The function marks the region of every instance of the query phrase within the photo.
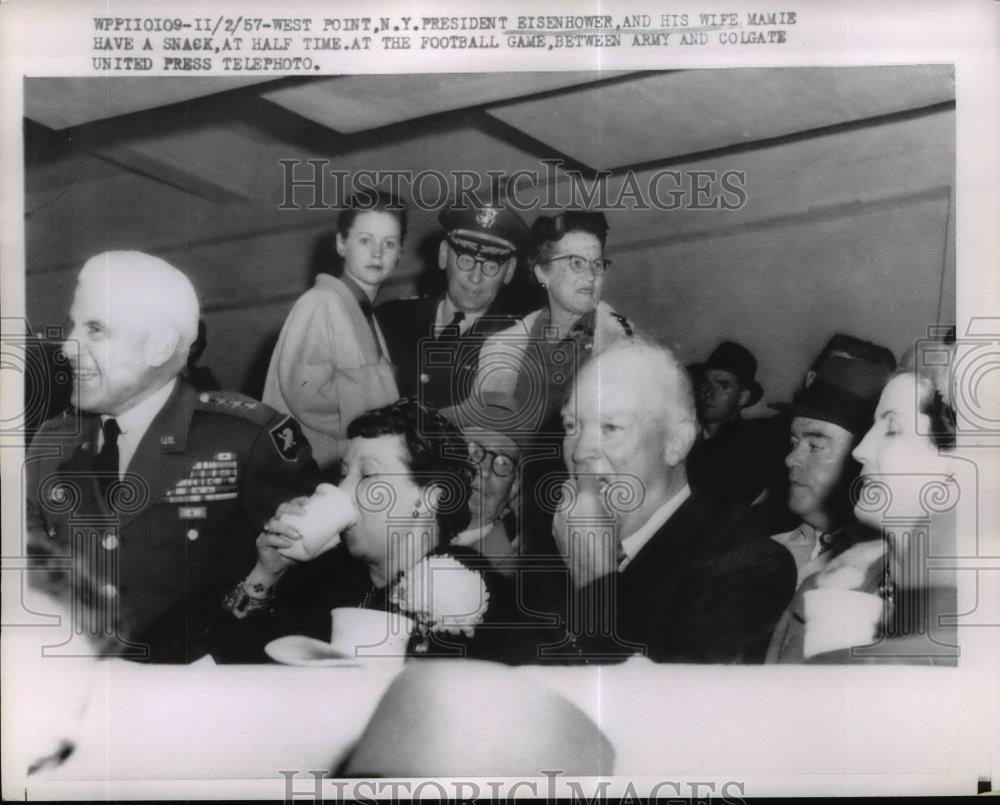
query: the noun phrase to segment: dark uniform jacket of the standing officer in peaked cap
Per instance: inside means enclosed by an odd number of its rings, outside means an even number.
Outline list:
[[[520,317],[494,302],[468,331],[435,333],[440,296],[396,299],[376,311],[403,397],[444,409],[459,405],[472,389],[486,339]]]

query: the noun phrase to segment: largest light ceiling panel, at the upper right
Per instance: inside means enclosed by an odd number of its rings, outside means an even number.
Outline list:
[[[952,69],[689,70],[515,101],[489,114],[593,168],[618,168],[953,101]]]

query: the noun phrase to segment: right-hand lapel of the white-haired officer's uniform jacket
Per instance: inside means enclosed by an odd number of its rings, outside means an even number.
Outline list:
[[[198,392],[183,378],[160,409],[139,442],[129,463],[128,474],[137,475],[148,488],[143,503],[121,515],[121,525],[130,523],[177,483],[187,472],[187,437]]]

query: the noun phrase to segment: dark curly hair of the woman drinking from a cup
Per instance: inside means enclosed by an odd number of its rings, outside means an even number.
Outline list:
[[[469,498],[475,467],[469,462],[462,434],[435,408],[409,398],[367,411],[347,428],[347,438],[376,439],[402,436],[409,455],[407,466],[421,489],[436,485],[439,543],[447,545],[469,525]]]

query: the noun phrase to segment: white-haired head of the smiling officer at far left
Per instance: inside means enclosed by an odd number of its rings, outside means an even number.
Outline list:
[[[73,404],[118,416],[172,380],[198,335],[190,280],[142,252],[104,252],[80,271],[66,351]]]

